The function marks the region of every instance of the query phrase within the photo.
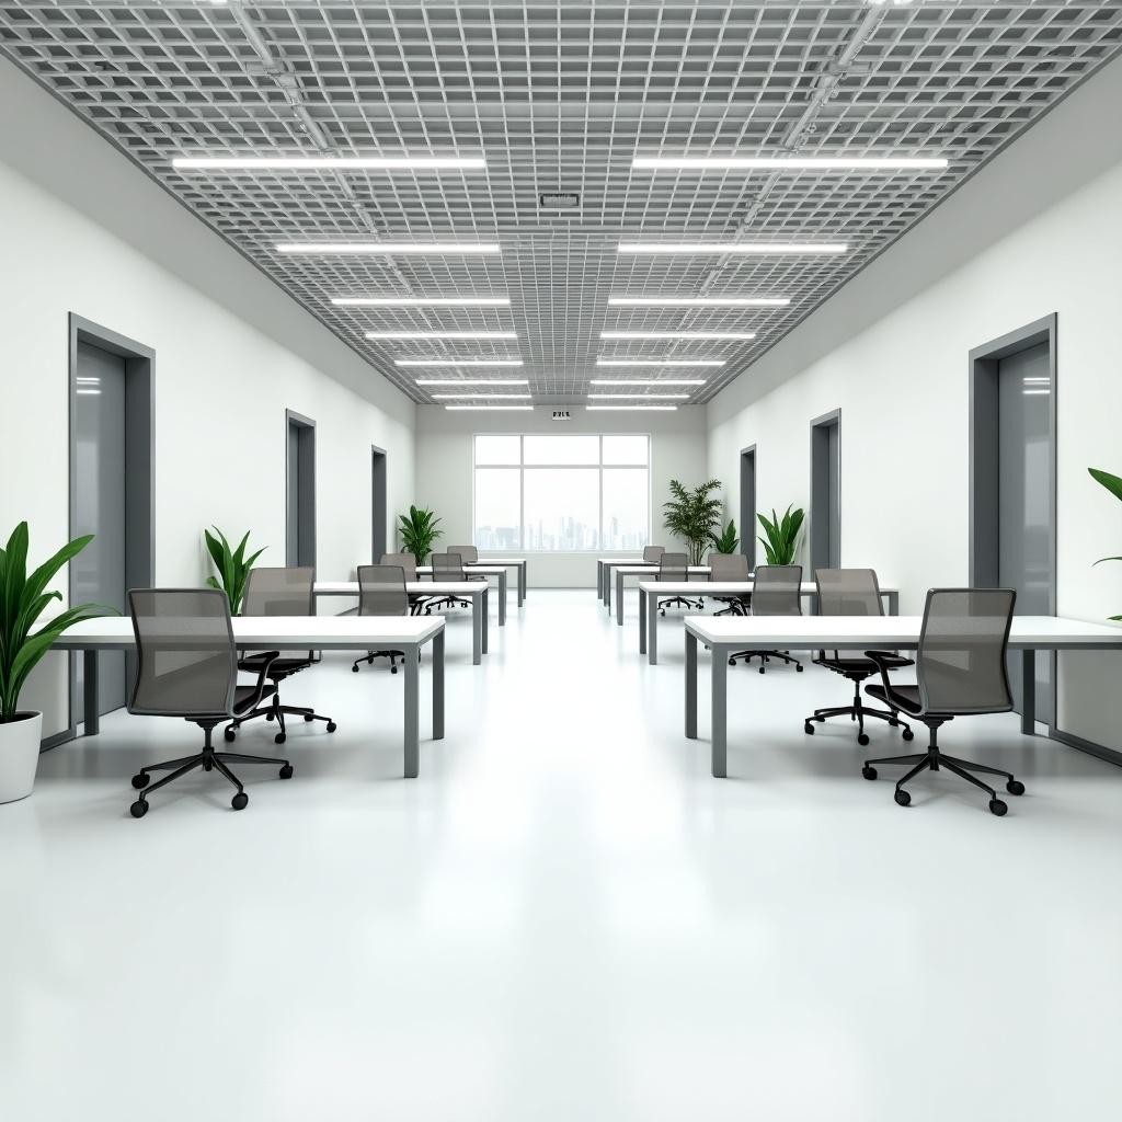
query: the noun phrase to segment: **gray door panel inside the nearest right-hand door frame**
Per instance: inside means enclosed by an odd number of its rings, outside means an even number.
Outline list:
[[[1051,615],[1051,379],[1048,343],[997,367],[997,582],[1017,589],[1017,614]],[[1037,659],[1037,720],[1055,724],[1051,659]],[[1010,668],[1021,707],[1020,660]]]

